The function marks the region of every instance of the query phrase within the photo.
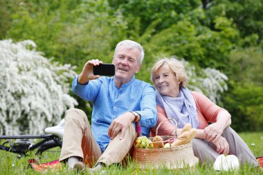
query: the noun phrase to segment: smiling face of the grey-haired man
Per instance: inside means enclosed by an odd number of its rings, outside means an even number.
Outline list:
[[[118,80],[129,82],[140,69],[139,56],[140,52],[137,48],[120,46],[112,61],[115,64],[115,77]]]

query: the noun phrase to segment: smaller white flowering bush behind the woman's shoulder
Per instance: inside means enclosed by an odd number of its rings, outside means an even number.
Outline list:
[[[205,94],[212,102],[219,102],[220,93],[227,91],[228,77],[215,68],[196,70],[195,66],[181,60],[189,77],[188,88]],[[197,74],[198,73],[198,74]]]

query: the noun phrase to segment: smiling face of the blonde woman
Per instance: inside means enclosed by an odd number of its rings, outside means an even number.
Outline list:
[[[161,95],[176,98],[180,83],[167,65],[161,66],[154,73],[154,86]]]

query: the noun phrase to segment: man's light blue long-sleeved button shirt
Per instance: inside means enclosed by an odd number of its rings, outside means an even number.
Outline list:
[[[143,135],[149,136],[149,129],[157,122],[156,95],[151,84],[133,77],[118,89],[114,77],[100,77],[85,85],[77,80],[78,75],[74,77],[72,90],[80,98],[93,103],[91,132],[102,151],[109,144],[109,125],[127,111],[140,114]]]

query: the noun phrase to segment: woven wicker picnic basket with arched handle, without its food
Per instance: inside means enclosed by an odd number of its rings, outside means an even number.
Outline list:
[[[167,120],[174,120],[168,118]],[[158,135],[158,128],[161,124],[167,120],[163,120],[156,129],[156,136]],[[176,120],[174,120],[176,123]],[[176,126],[177,128],[177,123]],[[172,136],[161,136],[163,141]],[[148,138],[152,140],[153,138]],[[193,167],[197,165],[198,158],[194,156],[194,151],[192,149],[192,142],[185,145],[180,145],[177,147],[167,147],[167,148],[155,148],[155,149],[142,149],[134,147],[132,154],[132,160],[136,162],[139,168],[152,168],[156,169],[158,167],[167,167],[170,169],[180,169],[183,167]]]

